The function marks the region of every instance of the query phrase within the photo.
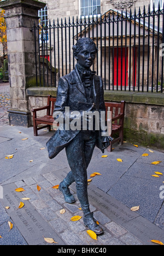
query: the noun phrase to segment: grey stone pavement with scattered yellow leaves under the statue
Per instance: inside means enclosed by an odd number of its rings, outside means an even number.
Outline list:
[[[48,245],[44,237],[54,238],[57,248],[155,245],[150,240],[164,243],[164,178],[151,176],[155,171],[163,172],[164,154],[124,143],[115,144],[111,153],[106,150],[104,154],[108,156],[102,158],[101,151],[95,148],[88,178],[93,172],[101,175],[92,178],[88,193],[91,211],[104,234],[93,240],[83,224],[75,185],[71,186],[77,199],[73,204],[66,203],[61,192],[52,188],[69,172],[65,150],[55,159],[48,158],[45,145],[53,132],[40,130],[39,136],[34,137],[32,127],[0,124],[0,245]],[[143,153],[149,155],[142,156]],[[10,154],[14,154],[13,158],[6,159]],[[152,165],[153,161],[161,162]],[[19,187],[25,191],[16,192]],[[22,200],[24,197],[30,200]],[[18,208],[20,201],[25,203],[22,208]],[[133,206],[140,206],[139,211],[132,212]],[[82,218],[72,222],[71,218],[77,215]],[[13,223],[10,231],[9,221]]]

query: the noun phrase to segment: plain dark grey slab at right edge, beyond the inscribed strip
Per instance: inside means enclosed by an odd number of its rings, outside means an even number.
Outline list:
[[[154,222],[163,200],[160,198],[159,181],[124,175],[108,194],[114,196],[128,207],[140,206],[138,213]],[[155,200],[154,200],[155,199]]]

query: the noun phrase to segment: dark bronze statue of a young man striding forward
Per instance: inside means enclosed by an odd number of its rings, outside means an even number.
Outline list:
[[[81,204],[84,216],[84,224],[96,234],[102,234],[103,230],[93,218],[90,211],[87,194],[87,167],[91,161],[93,149],[97,146],[104,153],[104,149],[110,144],[110,137],[102,136],[102,129],[89,129],[90,118],[85,116],[87,126],[83,129],[82,117],[84,112],[105,112],[104,91],[102,78],[91,71],[90,67],[95,60],[98,49],[90,38],[80,38],[73,46],[74,57],[78,61],[74,70],[58,80],[57,97],[54,114],[62,113],[64,121],[62,129],[58,129],[48,143],[49,158],[54,158],[63,148],[66,149],[68,164],[71,171],[60,183],[59,190],[63,193],[65,201],[75,202],[74,196],[69,190],[69,185],[76,184],[77,196]],[[66,107],[69,107],[66,113]],[[78,129],[70,129],[68,123],[73,120],[72,113],[79,113],[81,126]],[[57,117],[57,115],[56,115]],[[99,122],[101,117],[99,115]],[[57,120],[57,119],[56,119]],[[68,122],[69,120],[69,122]],[[95,120],[93,118],[93,120]]]

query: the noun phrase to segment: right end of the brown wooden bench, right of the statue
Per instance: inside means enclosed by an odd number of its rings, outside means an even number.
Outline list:
[[[119,141],[120,145],[123,144],[123,136],[124,136],[124,113],[125,113],[125,101],[121,101],[120,103],[114,102],[105,102],[106,110],[112,112],[112,133],[111,137],[118,132],[118,137],[114,138],[112,142],[110,142],[110,146],[107,148],[109,152],[112,152],[112,145]],[[107,113],[107,111],[106,111]],[[107,116],[106,116],[107,119]]]

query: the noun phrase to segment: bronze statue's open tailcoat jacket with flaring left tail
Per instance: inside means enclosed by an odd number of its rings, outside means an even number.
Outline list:
[[[93,109],[92,109],[92,106]],[[70,112],[83,110],[98,110],[106,111],[104,103],[104,90],[102,78],[98,75],[93,75],[93,104],[89,104],[85,92],[84,85],[80,79],[77,66],[73,71],[58,80],[57,96],[54,112],[62,112],[65,116],[65,107],[69,107]],[[72,139],[77,136],[80,130],[60,130],[58,129],[54,135],[46,143],[49,152],[49,158],[54,158],[58,153],[65,148]],[[96,146],[104,153],[104,146],[101,140],[101,131],[97,132]]]

